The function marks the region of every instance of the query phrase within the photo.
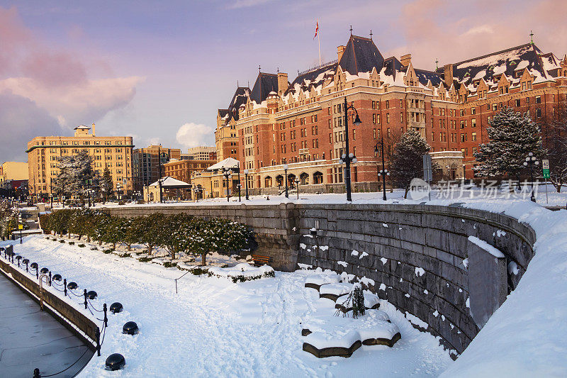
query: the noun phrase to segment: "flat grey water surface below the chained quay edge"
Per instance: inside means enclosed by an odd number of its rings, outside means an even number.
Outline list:
[[[0,273],[0,377],[48,375],[69,367],[85,352],[86,345],[39,304]],[[56,377],[74,377],[91,359],[81,361]]]

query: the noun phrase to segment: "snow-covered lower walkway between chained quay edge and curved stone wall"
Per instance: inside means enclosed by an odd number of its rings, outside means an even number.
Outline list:
[[[313,271],[276,272],[274,278],[239,284],[186,274],[175,294],[174,279],[184,273],[176,268],[39,235],[15,244],[14,252],[76,281],[79,291],[97,291],[93,304],[98,308],[105,302],[123,304],[122,313],[109,314],[102,356],[93,357],[81,377],[346,377],[369,372],[421,377],[437,376],[452,362],[436,338],[412,328],[387,302],[381,309],[402,335],[393,348],[363,345],[348,359],[318,359],[303,352],[302,323],[324,308],[335,311],[334,302],[303,287]],[[80,308],[78,298],[75,302]],[[127,321],[137,323],[138,335],[122,334]],[[120,372],[103,369],[114,352],[126,359]]]

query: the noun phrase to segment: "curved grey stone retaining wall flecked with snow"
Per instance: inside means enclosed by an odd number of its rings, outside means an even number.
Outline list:
[[[366,277],[369,289],[425,321],[429,332],[459,353],[516,287],[535,242],[534,230],[515,218],[458,206],[243,204],[106,211],[120,216],[185,212],[247,223],[254,228],[257,253],[271,256],[276,269],[301,263]],[[471,243],[469,236],[504,257]],[[507,274],[510,262],[517,269]]]

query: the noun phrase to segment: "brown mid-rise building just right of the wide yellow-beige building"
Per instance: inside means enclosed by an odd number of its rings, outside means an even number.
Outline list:
[[[166,148],[162,145],[136,148],[133,150],[132,155],[136,190],[141,190],[145,185],[152,184],[152,182],[156,182],[159,179],[160,164],[164,165],[172,159],[181,160],[181,150],[179,148]],[[162,177],[164,177],[163,171]]]

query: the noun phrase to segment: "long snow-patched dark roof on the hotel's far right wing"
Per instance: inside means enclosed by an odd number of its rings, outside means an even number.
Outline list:
[[[473,79],[488,81],[495,74],[515,77],[514,72],[522,61],[527,61],[528,70],[536,70],[541,76],[545,77],[544,67],[539,57],[541,54],[541,50],[536,45],[527,43],[455,63],[453,65],[453,77],[459,82],[469,83]]]

